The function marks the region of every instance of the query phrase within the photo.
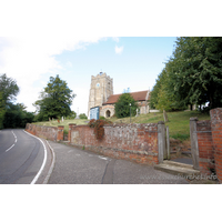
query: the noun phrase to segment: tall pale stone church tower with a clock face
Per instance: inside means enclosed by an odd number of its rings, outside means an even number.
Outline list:
[[[105,72],[100,72],[97,77],[91,77],[90,97],[88,103],[88,117],[90,109],[102,107],[108,98],[113,94],[113,79],[107,75]]]

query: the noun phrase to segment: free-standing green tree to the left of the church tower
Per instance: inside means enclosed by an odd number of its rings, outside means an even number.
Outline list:
[[[59,75],[50,77],[49,83],[40,94],[40,100],[34,103],[39,112],[39,121],[72,114],[70,105],[74,97],[75,94],[72,94],[67,82],[61,80]]]

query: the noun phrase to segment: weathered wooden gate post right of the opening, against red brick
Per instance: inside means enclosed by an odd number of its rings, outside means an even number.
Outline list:
[[[196,121],[198,121],[198,118],[190,118],[191,155],[192,155],[192,161],[193,161],[193,169],[200,170]]]

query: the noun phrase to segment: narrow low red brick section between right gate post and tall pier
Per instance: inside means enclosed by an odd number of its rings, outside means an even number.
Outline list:
[[[212,174],[214,165],[214,148],[211,132],[211,121],[196,122],[198,147],[199,147],[199,167],[203,174]]]

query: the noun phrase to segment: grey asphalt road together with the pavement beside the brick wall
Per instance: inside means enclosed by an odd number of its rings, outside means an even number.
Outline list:
[[[46,141],[23,130],[1,130],[0,184],[42,183],[188,184],[188,181],[150,165]]]

